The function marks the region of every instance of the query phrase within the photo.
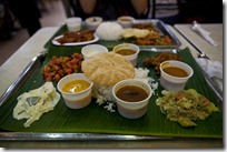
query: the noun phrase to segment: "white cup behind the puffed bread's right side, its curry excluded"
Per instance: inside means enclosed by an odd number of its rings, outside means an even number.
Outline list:
[[[122,49],[131,49],[131,50],[134,50],[136,53],[134,53],[134,54],[130,54],[130,55],[124,55],[126,59],[128,59],[130,62],[131,62],[131,64],[134,65],[134,67],[136,67],[136,64],[137,64],[137,58],[138,58],[138,54],[139,54],[139,47],[138,45],[136,45],[136,44],[134,44],[134,43],[121,43],[121,44],[118,44],[118,45],[116,45],[114,49],[112,49],[112,51],[114,52],[116,52],[116,53],[118,53],[118,51],[119,50],[122,50]]]

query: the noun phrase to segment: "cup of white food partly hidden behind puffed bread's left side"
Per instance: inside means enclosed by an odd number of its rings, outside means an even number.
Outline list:
[[[81,49],[85,60],[99,52],[108,52],[107,47],[101,44],[88,44]]]

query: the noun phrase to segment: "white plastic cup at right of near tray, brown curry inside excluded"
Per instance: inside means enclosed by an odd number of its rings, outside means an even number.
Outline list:
[[[174,77],[164,71],[165,68],[177,67],[187,72],[187,77]],[[160,85],[166,90],[184,90],[189,78],[193,77],[194,70],[186,63],[176,60],[168,60],[160,64]]]

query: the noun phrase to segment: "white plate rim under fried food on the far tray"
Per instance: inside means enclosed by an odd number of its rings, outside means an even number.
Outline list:
[[[95,34],[95,36],[93,36],[93,37],[95,37],[93,40],[90,40],[90,41],[85,41],[85,42],[70,42],[70,43],[62,43],[62,44],[61,44],[61,43],[59,43],[59,42],[57,41],[57,39],[62,38],[62,37],[63,37],[62,34],[56,37],[56,38],[52,40],[52,43],[56,44],[56,45],[83,45],[83,44],[93,43],[93,42],[96,42],[96,41],[99,40],[99,37],[97,37],[97,36]]]

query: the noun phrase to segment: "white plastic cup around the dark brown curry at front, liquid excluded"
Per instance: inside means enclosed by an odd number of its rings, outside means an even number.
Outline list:
[[[136,101],[136,102],[124,101],[119,99],[116,95],[116,93],[119,91],[120,88],[126,85],[139,87],[148,93],[148,97],[145,100]],[[112,95],[117,102],[118,112],[127,119],[141,118],[147,112],[147,105],[148,105],[149,99],[151,98],[151,94],[152,94],[152,90],[149,84],[134,79],[122,80],[117,84],[115,84],[112,88]]]

